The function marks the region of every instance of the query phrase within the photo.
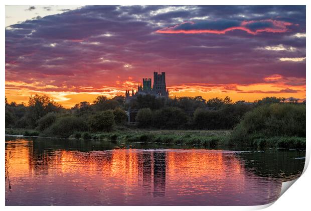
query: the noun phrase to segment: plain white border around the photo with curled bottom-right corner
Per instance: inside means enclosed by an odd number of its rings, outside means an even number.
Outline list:
[[[3,134],[3,137],[5,135],[5,103],[4,103],[4,98],[5,98],[5,5],[85,5],[87,3],[88,5],[306,5],[306,20],[310,20],[309,14],[310,14],[310,4],[308,4],[310,1],[302,1],[302,0],[295,0],[295,1],[289,1],[289,0],[283,0],[283,1],[271,1],[271,0],[261,0],[261,1],[241,1],[241,0],[236,0],[236,1],[223,1],[223,0],[217,0],[217,1],[198,1],[198,0],[192,0],[192,1],[185,1],[185,0],[173,0],[173,1],[168,1],[168,0],[158,0],[158,1],[142,1],[142,0],[133,0],[133,1],[119,1],[115,0],[113,2],[111,1],[99,1],[99,0],[88,0],[86,1],[81,1],[81,0],[76,0],[76,1],[60,1],[60,0],[55,0],[55,1],[38,1],[38,0],[28,0],[28,1],[17,1],[17,0],[11,0],[7,1],[4,0],[2,1],[3,5],[0,8],[0,14],[2,14],[2,29],[3,32],[1,33],[1,46],[2,46],[2,65],[1,65],[1,98],[3,100],[3,103],[0,103],[0,108],[1,108],[1,121],[0,121],[0,128]],[[44,3],[44,4],[43,4]],[[306,21],[306,31],[309,31],[309,22]],[[306,39],[306,46],[308,46],[308,40]],[[306,54],[308,54],[309,48],[306,48]],[[310,125],[310,113],[309,111],[309,103],[308,100],[310,99],[310,92],[308,91],[309,87],[309,78],[311,74],[311,68],[309,65],[309,60],[306,59],[306,107],[307,107],[307,121],[306,125],[307,128]],[[306,139],[307,139],[307,151],[306,151],[306,165],[307,166],[310,158],[310,144],[309,142],[310,138],[310,133],[307,130],[306,133]],[[2,150],[0,154],[1,158],[1,165],[0,169],[4,169],[5,165],[5,142],[3,140],[2,142]],[[268,204],[268,205],[262,205],[262,206],[196,206],[194,207],[195,209],[198,210],[253,210],[253,209],[261,209],[265,208],[268,206],[267,210],[306,210],[310,207],[310,199],[309,199],[309,193],[310,193],[310,181],[309,178],[311,178],[311,172],[309,169],[304,169],[303,175],[292,185],[292,187],[289,188],[276,202]],[[1,205],[5,209],[8,210],[18,210],[18,209],[27,209],[27,210],[41,210],[41,209],[46,209],[46,210],[51,210],[54,209],[54,207],[41,207],[41,206],[23,206],[23,207],[17,207],[17,206],[6,206],[5,207],[5,175],[4,171],[0,171],[2,175],[2,180],[1,180]],[[269,206],[271,205],[271,206]],[[71,207],[67,206],[58,206],[57,209],[68,209]],[[103,208],[105,210],[114,210],[114,209],[126,209],[126,210],[159,210],[159,209],[164,209],[164,210],[169,210],[169,209],[179,209],[179,210],[189,210],[192,209],[192,207],[188,206],[96,206],[96,207],[91,207],[91,206],[75,206],[72,207],[76,210],[85,210],[86,208],[89,209],[94,209],[94,210],[102,210]]]

